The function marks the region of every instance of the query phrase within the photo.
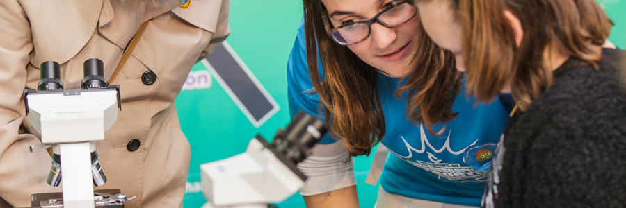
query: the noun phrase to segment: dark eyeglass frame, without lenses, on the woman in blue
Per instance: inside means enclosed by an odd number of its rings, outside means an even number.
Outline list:
[[[396,7],[400,6],[402,3],[409,3],[408,1],[410,1],[410,0],[395,0],[395,1],[391,1],[390,3],[394,3],[395,2],[396,5],[393,6],[393,7],[390,7],[390,8],[386,8],[385,10],[382,10],[382,11],[378,12],[378,14],[374,15],[374,17],[371,17],[369,19],[361,19],[361,20],[358,20],[358,21],[353,21],[352,24],[348,24],[348,25],[344,25],[344,26],[337,26],[337,27],[332,28],[332,29],[330,28],[330,22],[328,22],[328,19],[330,17],[328,17],[328,14],[326,12],[326,7],[321,3],[321,1],[319,2],[319,4],[320,4],[320,8],[321,8],[321,16],[322,16],[322,21],[323,21],[323,24],[324,24],[324,30],[326,30],[326,34],[328,34],[328,36],[330,36],[330,39],[334,40],[337,44],[340,44],[342,46],[348,46],[348,45],[351,45],[351,44],[358,44],[358,43],[362,42],[363,40],[366,40],[367,37],[369,37],[369,35],[371,35],[371,24],[374,24],[375,22],[380,24],[380,25],[382,25],[382,26],[385,26],[387,28],[394,28],[394,27],[397,27],[397,26],[401,26],[401,25],[407,23],[408,21],[410,21],[411,19],[415,18],[415,16],[417,15],[417,7],[415,5],[413,5],[412,3],[410,3],[410,6],[415,8],[415,13],[409,19],[406,19],[406,21],[403,21],[400,24],[396,24],[396,25],[390,26],[390,25],[387,25],[387,24],[383,23],[382,21],[380,21],[380,19],[378,19],[378,17],[380,17],[380,15],[383,15],[383,13],[385,13],[385,12],[387,12],[389,10],[392,10],[393,8],[396,8]],[[352,42],[352,43],[347,43],[347,44],[346,43],[341,43],[341,42],[337,41],[335,39],[335,37],[330,35],[330,33],[338,31],[341,28],[344,28],[344,27],[347,27],[347,26],[353,26],[355,24],[362,24],[362,23],[367,24],[367,35],[365,35],[365,37],[363,37],[363,39],[361,39],[361,40],[359,40],[357,42]]]

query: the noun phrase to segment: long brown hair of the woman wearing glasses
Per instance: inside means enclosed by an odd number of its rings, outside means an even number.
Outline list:
[[[412,2],[410,2],[412,3]],[[341,46],[324,29],[320,0],[303,0],[309,74],[320,98],[320,110],[333,137],[352,156],[369,155],[385,135],[385,118],[378,92],[378,70]],[[417,17],[414,17],[417,18]],[[332,26],[331,26],[332,27]],[[408,93],[406,116],[410,122],[431,125],[456,117],[452,103],[460,90],[454,56],[436,46],[422,30],[413,50],[406,84],[396,96]],[[323,69],[320,77],[319,61]],[[407,66],[410,67],[410,66]]]

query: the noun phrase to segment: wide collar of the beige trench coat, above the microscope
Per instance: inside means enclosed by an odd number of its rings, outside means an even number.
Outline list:
[[[31,22],[35,52],[31,63],[63,64],[98,31],[125,49],[144,21],[177,8],[182,0],[68,0],[22,2]],[[129,21],[130,20],[130,21]]]

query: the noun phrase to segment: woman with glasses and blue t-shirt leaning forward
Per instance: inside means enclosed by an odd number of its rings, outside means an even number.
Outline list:
[[[424,33],[412,1],[303,3],[290,110],[318,114],[331,132],[298,164],[307,207],[358,207],[351,157],[378,143],[393,155],[374,159],[371,173],[384,164],[377,207],[479,206],[510,99],[467,96],[454,56]]]

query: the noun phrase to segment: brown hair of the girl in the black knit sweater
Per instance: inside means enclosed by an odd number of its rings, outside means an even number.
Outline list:
[[[546,49],[597,67],[612,22],[595,0],[449,0],[463,27],[467,91],[489,101],[506,85],[525,110],[552,84]],[[522,24],[519,47],[504,17],[512,12]]]

